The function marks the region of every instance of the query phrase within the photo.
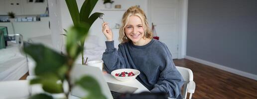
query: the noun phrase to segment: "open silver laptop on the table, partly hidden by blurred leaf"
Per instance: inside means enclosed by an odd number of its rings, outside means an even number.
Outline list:
[[[74,65],[71,71],[71,83],[74,84],[76,80],[79,80],[81,77],[85,75],[90,75],[91,77],[95,78],[98,81],[101,91],[107,99],[114,99],[112,96],[113,92],[133,93],[138,89],[135,87],[129,87],[129,86],[124,86],[124,85],[119,85],[119,84],[114,84],[109,82],[107,83],[105,81],[102,71],[100,71],[98,67],[86,66],[81,64]],[[85,96],[88,95],[88,93],[84,91],[82,88],[80,88],[79,86],[74,86],[73,89],[71,89],[71,95],[79,98],[84,98]],[[117,96],[114,96],[114,97],[117,97]]]

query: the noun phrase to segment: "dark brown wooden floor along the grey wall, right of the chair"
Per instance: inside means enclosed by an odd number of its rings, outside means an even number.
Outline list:
[[[176,66],[190,68],[196,90],[192,99],[257,99],[257,81],[188,59],[174,59]]]

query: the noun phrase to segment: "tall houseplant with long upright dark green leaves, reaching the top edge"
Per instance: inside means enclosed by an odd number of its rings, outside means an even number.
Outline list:
[[[103,13],[95,12],[91,16],[91,12],[93,8],[95,7],[98,0],[85,0],[80,11],[78,9],[78,5],[76,0],[65,0],[66,4],[68,6],[72,21],[74,26],[78,26],[81,23],[87,23],[89,25],[89,28],[85,30],[86,32],[84,34],[87,34],[92,24],[95,22],[95,20]],[[81,55],[82,55],[82,64],[85,64],[84,59],[84,43],[85,43],[86,36],[83,37],[80,41],[81,46]]]

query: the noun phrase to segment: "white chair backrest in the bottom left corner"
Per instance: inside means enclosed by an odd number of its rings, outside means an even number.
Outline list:
[[[27,80],[1,81],[0,99],[27,99],[29,82]]]

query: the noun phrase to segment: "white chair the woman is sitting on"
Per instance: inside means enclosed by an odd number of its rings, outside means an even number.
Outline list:
[[[185,67],[176,66],[179,73],[184,79],[184,89],[182,92],[183,99],[186,99],[187,93],[190,93],[189,99],[192,98],[192,94],[195,93],[195,82],[193,81],[193,72],[191,69]]]

